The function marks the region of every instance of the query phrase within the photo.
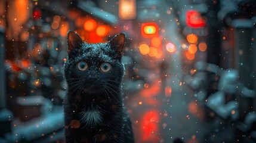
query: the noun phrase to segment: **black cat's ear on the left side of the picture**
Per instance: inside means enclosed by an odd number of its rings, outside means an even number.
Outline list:
[[[78,35],[78,33],[75,33],[73,31],[67,32],[67,53],[69,54],[70,51],[73,51],[74,49],[79,49],[82,46],[82,39]]]

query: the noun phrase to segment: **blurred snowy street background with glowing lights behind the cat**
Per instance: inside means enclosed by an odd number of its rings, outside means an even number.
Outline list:
[[[127,34],[136,142],[256,142],[256,1],[1,0],[0,142],[64,142],[67,31]]]

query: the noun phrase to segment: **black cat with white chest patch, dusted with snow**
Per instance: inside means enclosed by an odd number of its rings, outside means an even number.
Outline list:
[[[66,142],[134,142],[121,95],[124,43],[124,33],[108,43],[89,44],[68,32]]]

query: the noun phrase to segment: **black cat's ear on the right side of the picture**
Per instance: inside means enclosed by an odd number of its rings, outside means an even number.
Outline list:
[[[116,35],[114,38],[112,38],[109,41],[109,43],[110,43],[112,50],[115,50],[116,52],[118,52],[118,59],[121,60],[124,45],[125,45],[125,34],[120,33],[120,34]]]

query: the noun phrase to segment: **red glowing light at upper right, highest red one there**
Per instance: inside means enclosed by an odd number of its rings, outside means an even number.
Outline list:
[[[201,13],[196,10],[186,11],[186,24],[192,28],[205,27],[206,20],[201,17]]]

